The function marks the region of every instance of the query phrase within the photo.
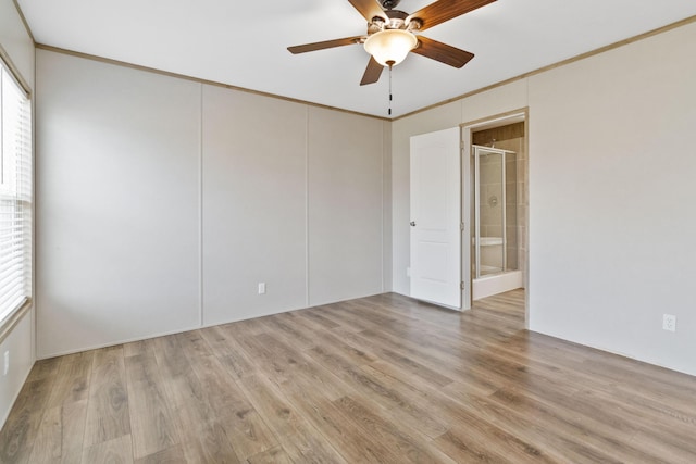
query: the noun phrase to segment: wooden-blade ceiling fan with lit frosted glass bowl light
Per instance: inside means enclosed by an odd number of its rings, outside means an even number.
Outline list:
[[[428,39],[421,32],[469,13],[496,0],[437,0],[415,13],[408,14],[395,8],[400,0],[348,0],[368,20],[368,34],[343,39],[288,47],[290,53],[306,53],[355,43],[363,43],[371,54],[361,86],[380,80],[384,66],[400,63],[409,52],[462,67],[473,53]],[[419,35],[417,35],[417,33]]]

